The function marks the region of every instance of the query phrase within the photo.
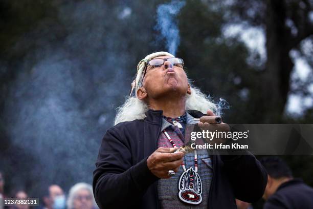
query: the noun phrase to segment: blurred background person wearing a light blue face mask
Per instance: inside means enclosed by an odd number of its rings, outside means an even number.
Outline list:
[[[65,195],[59,185],[52,184],[48,187],[47,194],[43,196],[43,209],[64,209]]]

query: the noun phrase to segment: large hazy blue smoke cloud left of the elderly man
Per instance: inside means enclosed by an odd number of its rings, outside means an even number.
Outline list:
[[[131,41],[150,42],[146,30],[136,34],[139,26],[125,33],[136,18],[131,5],[55,5],[56,16],[43,18],[12,48],[27,50],[16,61],[4,109],[10,147],[1,153],[2,170],[14,174],[7,178],[11,189],[26,187],[34,197],[50,183],[68,191],[74,183],[92,182],[101,139],[136,72]],[[152,28],[153,18],[145,20]],[[142,53],[147,51],[148,45]]]

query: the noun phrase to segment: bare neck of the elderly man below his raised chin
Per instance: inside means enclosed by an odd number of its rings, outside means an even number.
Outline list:
[[[186,98],[167,98],[150,100],[149,108],[152,110],[162,110],[166,117],[175,118],[185,114]]]

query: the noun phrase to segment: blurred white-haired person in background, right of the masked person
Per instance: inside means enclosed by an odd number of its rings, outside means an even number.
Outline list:
[[[93,187],[87,183],[77,183],[72,186],[68,197],[68,209],[98,208],[93,195]]]

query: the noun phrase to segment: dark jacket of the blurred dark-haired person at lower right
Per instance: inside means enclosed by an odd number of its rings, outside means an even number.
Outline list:
[[[300,179],[282,183],[264,204],[264,209],[312,209],[313,188]]]

